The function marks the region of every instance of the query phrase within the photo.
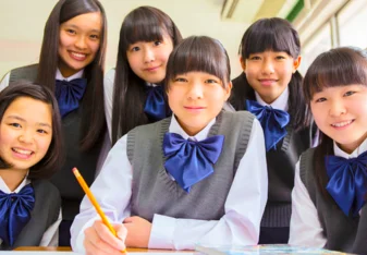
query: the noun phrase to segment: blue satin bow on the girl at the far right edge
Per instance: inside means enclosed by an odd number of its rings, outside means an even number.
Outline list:
[[[351,210],[357,216],[367,191],[367,151],[350,159],[327,156],[325,162],[329,175],[327,191],[346,216]]]

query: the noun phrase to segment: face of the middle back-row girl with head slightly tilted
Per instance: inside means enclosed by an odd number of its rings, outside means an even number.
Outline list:
[[[147,83],[160,83],[166,77],[168,58],[173,50],[171,37],[163,33],[162,40],[137,41],[126,51],[133,72]]]

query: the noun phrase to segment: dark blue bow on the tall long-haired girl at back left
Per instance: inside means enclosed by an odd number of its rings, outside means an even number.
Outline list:
[[[79,107],[79,100],[86,87],[86,78],[75,78],[69,82],[65,80],[56,81],[56,98],[58,99],[62,118]]]

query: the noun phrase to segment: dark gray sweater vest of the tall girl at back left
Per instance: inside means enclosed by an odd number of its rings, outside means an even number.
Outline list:
[[[35,82],[37,77],[38,64],[27,65],[14,69],[10,73],[10,81],[27,80]],[[79,211],[79,204],[85,195],[79,184],[76,182],[73,172],[76,167],[88,185],[95,180],[97,160],[102,145],[102,139],[93,149],[82,151],[81,139],[81,120],[83,116],[83,106],[77,110],[70,112],[62,118],[62,131],[65,146],[65,161],[60,171],[51,179],[51,182],[59,189],[62,198],[62,218],[73,220]]]

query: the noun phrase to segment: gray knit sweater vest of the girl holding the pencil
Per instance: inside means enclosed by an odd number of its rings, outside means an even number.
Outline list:
[[[133,166],[132,215],[150,222],[155,214],[219,220],[224,215],[229,190],[246,151],[253,121],[254,117],[244,111],[222,111],[217,117],[208,136],[225,136],[221,155],[213,166],[215,172],[193,185],[189,193],[172,181],[164,169],[162,142],[171,118],[129,132],[127,157]]]

